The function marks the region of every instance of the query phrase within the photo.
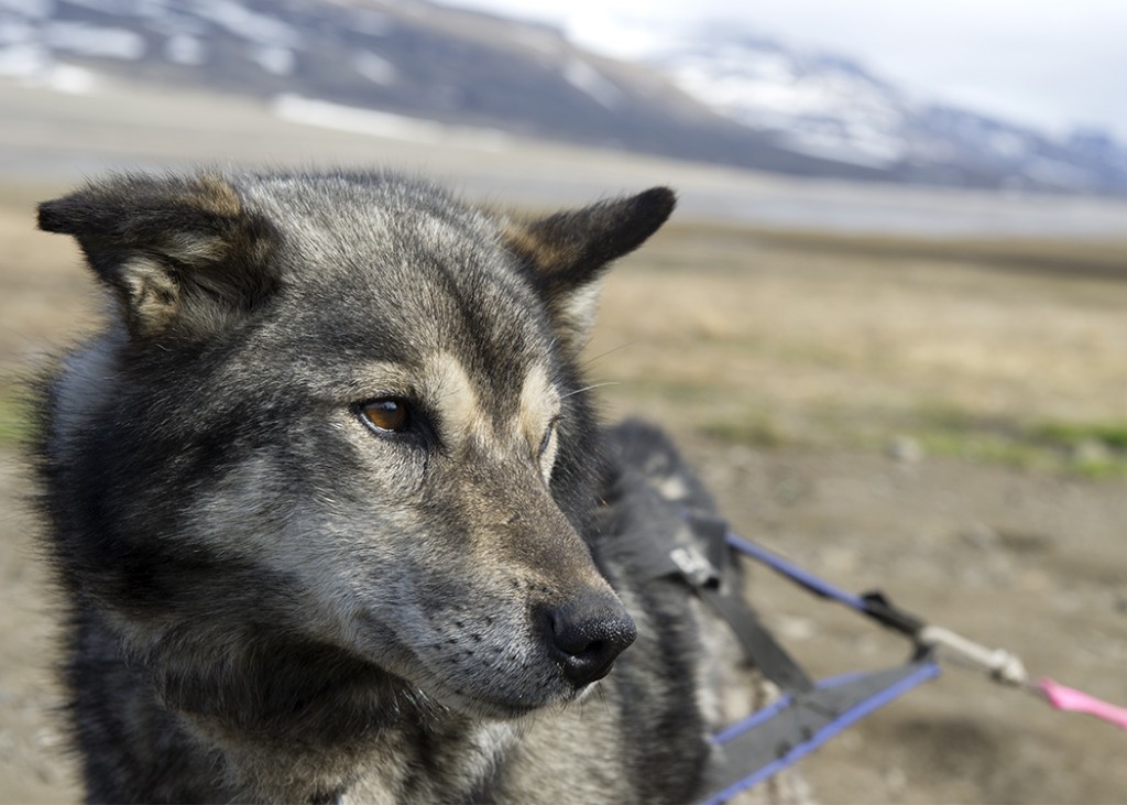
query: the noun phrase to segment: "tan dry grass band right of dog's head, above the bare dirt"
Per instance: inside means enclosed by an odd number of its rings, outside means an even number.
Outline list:
[[[1125,246],[675,224],[609,281],[592,370],[618,410],[767,446],[1115,471]]]

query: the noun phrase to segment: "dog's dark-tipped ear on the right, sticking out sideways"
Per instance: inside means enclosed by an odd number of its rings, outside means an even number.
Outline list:
[[[668,187],[654,187],[506,227],[505,244],[531,268],[568,357],[587,343],[606,266],[641,246],[665,223],[675,203]]]

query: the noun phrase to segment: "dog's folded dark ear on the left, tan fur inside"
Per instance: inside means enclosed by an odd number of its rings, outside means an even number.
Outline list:
[[[216,175],[123,175],[39,205],[39,229],[73,235],[117,295],[135,339],[205,335],[277,284],[274,228]]]

